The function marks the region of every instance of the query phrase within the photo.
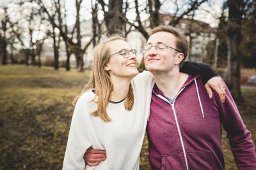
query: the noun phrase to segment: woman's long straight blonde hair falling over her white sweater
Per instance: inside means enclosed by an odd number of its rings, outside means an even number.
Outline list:
[[[109,97],[113,91],[113,84],[111,82],[108,71],[104,70],[105,65],[109,61],[109,44],[115,40],[127,40],[120,35],[111,35],[104,42],[99,43],[93,49],[93,65],[92,65],[92,77],[86,86],[83,88],[81,93],[74,98],[72,104],[76,105],[76,102],[83,93],[95,89],[96,97],[94,102],[97,102],[97,110],[92,112],[92,116],[99,116],[102,120],[109,122],[108,113],[106,108],[109,103]],[[125,110],[131,111],[134,103],[134,95],[132,91],[132,86],[130,84],[129,91],[125,97]]]

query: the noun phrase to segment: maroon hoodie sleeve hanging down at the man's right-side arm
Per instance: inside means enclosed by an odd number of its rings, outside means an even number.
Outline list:
[[[256,169],[256,154],[251,134],[243,123],[230,91],[226,88],[225,103],[219,102],[220,119],[227,131],[230,148],[236,160],[236,165],[241,169]],[[217,97],[218,98],[218,97]]]

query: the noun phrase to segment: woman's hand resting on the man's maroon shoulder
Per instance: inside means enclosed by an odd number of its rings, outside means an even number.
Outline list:
[[[220,97],[220,101],[222,103],[225,102],[225,96],[226,96],[225,83],[223,82],[220,76],[212,77],[211,79],[209,79],[209,81],[207,81],[205,84],[205,88],[207,90],[209,98],[212,98],[212,89],[214,89],[216,93],[218,93]]]

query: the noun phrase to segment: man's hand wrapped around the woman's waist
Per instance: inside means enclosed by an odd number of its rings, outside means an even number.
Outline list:
[[[88,166],[98,166],[101,161],[106,160],[107,155],[104,150],[93,150],[89,148],[84,153],[84,162]]]

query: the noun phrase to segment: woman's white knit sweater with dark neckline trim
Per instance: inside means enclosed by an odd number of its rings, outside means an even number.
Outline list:
[[[112,121],[108,123],[90,115],[97,107],[92,102],[95,94],[92,91],[84,93],[72,117],[63,169],[139,169],[153,85],[149,72],[134,77],[132,110],[125,110],[124,101],[109,103],[107,112]],[[97,167],[84,164],[83,155],[91,146],[107,153],[106,160]]]

